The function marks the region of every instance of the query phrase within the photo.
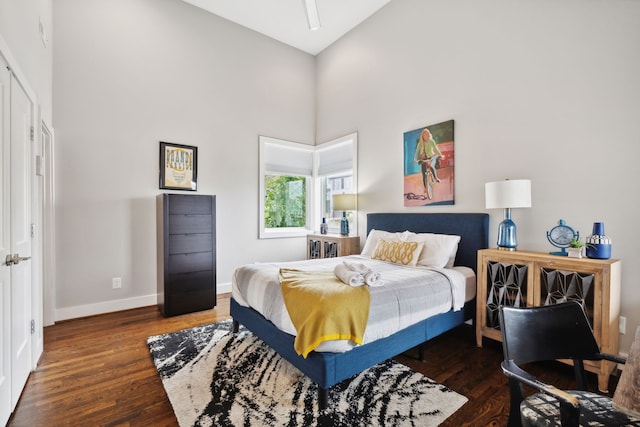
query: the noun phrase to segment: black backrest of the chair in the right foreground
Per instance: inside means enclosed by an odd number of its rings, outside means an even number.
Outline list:
[[[517,364],[554,359],[599,360],[598,343],[582,305],[500,307],[505,360]]]

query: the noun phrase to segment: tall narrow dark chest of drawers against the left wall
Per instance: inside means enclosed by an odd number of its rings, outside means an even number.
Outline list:
[[[164,316],[216,305],[216,198],[159,194],[158,307]]]

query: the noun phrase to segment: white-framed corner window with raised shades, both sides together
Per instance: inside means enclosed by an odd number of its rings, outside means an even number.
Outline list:
[[[332,196],[356,192],[356,143],[355,133],[318,146],[260,136],[260,238],[304,236],[322,218],[339,232]]]

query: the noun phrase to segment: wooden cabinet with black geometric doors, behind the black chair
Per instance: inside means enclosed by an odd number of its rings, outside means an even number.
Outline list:
[[[535,307],[578,301],[600,350],[617,355],[621,264],[616,259],[569,258],[544,252],[478,251],[478,347],[482,337],[502,341],[498,322],[501,305]],[[598,375],[602,391],[607,390],[614,368],[613,362],[585,361],[585,369]]]

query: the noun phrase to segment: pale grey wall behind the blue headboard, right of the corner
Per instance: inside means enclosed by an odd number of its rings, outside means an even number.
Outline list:
[[[603,221],[640,324],[640,2],[394,0],[317,57],[317,140],[358,131],[359,215],[483,212],[484,183],[532,180],[521,249],[560,218]],[[455,120],[455,205],[403,207],[403,132]],[[501,211],[490,211],[495,246]],[[360,222],[360,235],[365,221]]]

